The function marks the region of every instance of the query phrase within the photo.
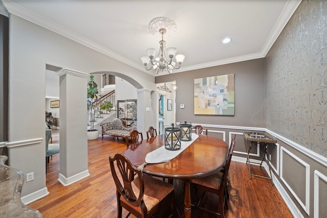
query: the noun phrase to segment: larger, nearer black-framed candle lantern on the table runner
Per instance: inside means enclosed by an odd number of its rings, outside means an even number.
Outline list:
[[[176,151],[180,149],[181,146],[181,129],[174,127],[165,128],[165,148],[170,151]]]

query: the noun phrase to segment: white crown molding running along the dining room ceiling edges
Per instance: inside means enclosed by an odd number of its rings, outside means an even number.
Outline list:
[[[290,2],[294,2],[294,1],[296,1],[296,4],[290,3]],[[281,13],[281,16],[278,18],[278,21],[276,22],[275,27],[271,31],[261,52],[255,53],[255,54],[250,54],[250,55],[239,56],[239,57],[233,57],[233,58],[224,59],[224,60],[196,64],[196,65],[192,65],[192,66],[185,66],[185,67],[181,67],[180,69],[174,70],[173,73],[207,68],[207,67],[213,67],[213,66],[219,66],[219,65],[224,65],[224,64],[258,59],[258,58],[264,58],[267,55],[267,53],[269,52],[269,50],[270,50],[271,46],[273,45],[273,43],[275,42],[275,40],[278,38],[279,34],[281,34],[284,27],[287,25],[287,22],[292,17],[293,13],[297,9],[297,7],[301,3],[301,1],[302,0],[289,0],[287,2],[283,12]],[[60,34],[66,38],[76,41],[82,45],[85,45],[85,46],[89,47],[90,49],[98,51],[108,57],[111,57],[115,60],[125,63],[125,64],[127,64],[131,67],[134,67],[138,70],[141,70],[143,72],[146,72],[147,74],[149,74],[151,76],[157,77],[157,76],[163,76],[163,75],[169,74],[168,72],[163,72],[163,73],[160,73],[159,75],[156,75],[153,70],[146,70],[142,65],[135,63],[119,54],[116,54],[116,53],[112,52],[111,50],[108,50],[105,47],[103,47],[91,40],[88,40],[83,36],[80,36],[80,35],[72,32],[71,30],[68,30],[60,25],[57,25],[57,23],[55,23],[51,20],[48,20],[30,10],[27,10],[27,9],[15,4],[13,1],[9,0],[9,1],[4,1],[3,3],[5,5],[5,7],[7,8],[7,10],[9,11],[9,13],[12,13],[16,16],[19,16],[26,20],[29,20],[45,29],[48,29],[48,30],[53,31],[57,34]]]

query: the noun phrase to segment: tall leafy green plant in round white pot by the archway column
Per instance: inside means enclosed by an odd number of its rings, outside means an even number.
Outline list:
[[[113,107],[111,102],[104,101],[99,104],[98,100],[98,84],[94,81],[94,76],[90,75],[90,81],[87,83],[87,110],[90,115],[90,129],[87,130],[87,140],[94,140],[99,137],[99,130],[94,129],[96,114],[103,114],[103,111],[110,112]]]

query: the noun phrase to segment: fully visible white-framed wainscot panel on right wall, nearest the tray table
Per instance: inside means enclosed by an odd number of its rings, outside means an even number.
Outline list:
[[[287,162],[285,168],[283,167],[284,162]],[[291,165],[292,167],[288,167]],[[286,168],[290,169],[288,172],[284,171]],[[296,171],[294,171],[296,169]],[[302,169],[302,171],[301,171]],[[293,172],[293,173],[292,173]],[[301,175],[305,175],[303,178]],[[293,153],[285,149],[284,147],[281,147],[281,180],[284,182],[286,187],[289,189],[289,191],[292,193],[294,198],[297,200],[297,202],[301,205],[301,207],[306,211],[308,215],[310,215],[310,165],[306,163],[305,161],[301,160],[297,156],[295,156]],[[299,187],[297,184],[295,184],[292,181],[305,181],[303,187]],[[303,189],[306,191],[303,192]],[[304,193],[304,196],[301,194]],[[304,202],[303,202],[304,201]]]

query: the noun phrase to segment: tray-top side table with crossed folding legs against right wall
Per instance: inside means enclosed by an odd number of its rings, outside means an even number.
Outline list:
[[[271,137],[270,135],[268,134],[265,134],[265,133],[256,133],[256,132],[243,132],[243,136],[246,140],[246,148],[247,148],[247,159],[246,159],[246,163],[249,164],[249,174],[250,174],[250,179],[251,179],[251,176],[257,176],[257,177],[261,177],[261,178],[265,178],[265,179],[270,179],[271,180],[271,183],[273,183],[272,181],[272,176],[271,176],[271,169],[270,169],[270,164],[269,164],[269,159],[267,157],[267,150],[268,150],[268,144],[275,144],[277,143],[277,141]],[[269,177],[265,177],[265,176],[260,176],[260,175],[256,175],[256,174],[251,174],[251,167],[250,167],[250,163],[254,163],[254,162],[250,162],[250,150],[252,148],[252,143],[259,143],[260,145],[261,144],[264,144],[265,146],[265,153],[261,159],[261,163],[260,163],[260,166],[262,165],[263,161],[264,161],[264,158],[266,157],[266,162],[268,164],[268,168],[269,168],[269,174],[270,174],[270,178]]]

